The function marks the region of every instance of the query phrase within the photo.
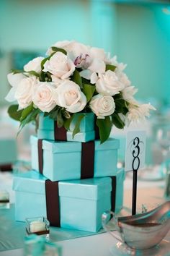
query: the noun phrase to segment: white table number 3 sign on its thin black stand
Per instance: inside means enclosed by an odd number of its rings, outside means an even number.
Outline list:
[[[131,131],[127,134],[125,151],[125,171],[133,171],[132,214],[136,213],[137,173],[145,165],[146,132]]]

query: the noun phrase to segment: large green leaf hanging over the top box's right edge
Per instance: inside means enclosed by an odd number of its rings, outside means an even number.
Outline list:
[[[99,137],[101,144],[109,138],[112,121],[109,116],[106,116],[105,119],[97,119],[97,127],[99,127]]]

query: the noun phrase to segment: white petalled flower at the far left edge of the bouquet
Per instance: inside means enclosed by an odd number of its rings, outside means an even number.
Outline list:
[[[16,98],[14,95],[19,85],[19,82],[21,82],[23,78],[25,78],[25,75],[21,73],[19,74],[9,73],[7,75],[8,82],[10,85],[12,85],[12,88],[11,90],[9,90],[9,93],[5,97],[6,101],[9,101],[9,102],[16,101]]]

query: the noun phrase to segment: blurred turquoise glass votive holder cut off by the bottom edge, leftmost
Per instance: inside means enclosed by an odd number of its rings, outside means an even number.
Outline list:
[[[45,238],[30,234],[24,238],[24,256],[42,256],[45,249]]]

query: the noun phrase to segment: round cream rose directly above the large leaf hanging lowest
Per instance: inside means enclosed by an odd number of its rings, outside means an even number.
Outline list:
[[[104,116],[112,115],[115,111],[115,101],[109,95],[95,95],[91,98],[89,106],[99,119],[104,119]]]

